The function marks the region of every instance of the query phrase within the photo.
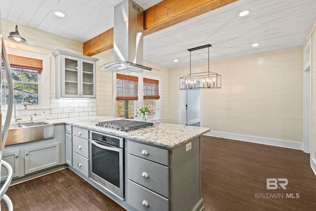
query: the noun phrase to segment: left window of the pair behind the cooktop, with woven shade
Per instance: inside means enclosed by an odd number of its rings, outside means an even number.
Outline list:
[[[117,74],[117,117],[134,119],[138,100],[138,77]]]

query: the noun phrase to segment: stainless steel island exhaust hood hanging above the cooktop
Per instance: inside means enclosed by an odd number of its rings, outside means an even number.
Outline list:
[[[132,0],[114,6],[114,62],[99,68],[122,74],[151,71],[143,66],[143,8]]]

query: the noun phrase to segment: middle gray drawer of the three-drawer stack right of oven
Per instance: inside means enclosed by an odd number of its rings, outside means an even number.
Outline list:
[[[169,198],[168,167],[133,155],[127,155],[127,165],[128,179]]]

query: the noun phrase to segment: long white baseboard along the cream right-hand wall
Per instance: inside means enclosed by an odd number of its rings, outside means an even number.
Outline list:
[[[225,132],[209,131],[205,133],[204,135],[214,136],[214,137],[219,137],[219,138],[234,139],[238,141],[252,142],[252,143],[257,143],[257,144],[266,144],[266,145],[277,146],[277,147],[285,147],[285,148],[290,148],[290,149],[299,149],[299,150],[303,150],[303,146],[304,146],[303,143],[298,143],[298,142],[293,142],[293,141],[284,141],[284,140],[261,138],[261,137],[255,137],[255,136],[238,135],[238,134],[225,133]]]

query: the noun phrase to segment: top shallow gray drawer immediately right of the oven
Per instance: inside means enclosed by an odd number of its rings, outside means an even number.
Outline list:
[[[127,144],[128,144],[127,152],[129,154],[168,166],[168,163],[169,163],[168,150],[160,149],[158,147],[153,147],[146,144],[137,143],[134,141],[128,141]]]

